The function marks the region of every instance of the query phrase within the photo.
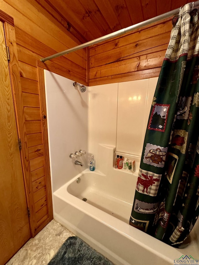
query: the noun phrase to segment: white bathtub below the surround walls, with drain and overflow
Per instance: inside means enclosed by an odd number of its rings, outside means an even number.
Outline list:
[[[114,169],[113,174],[86,170],[55,191],[54,219],[117,265],[174,264],[186,254],[199,258],[194,233],[186,249],[175,249],[130,226],[135,176]]]

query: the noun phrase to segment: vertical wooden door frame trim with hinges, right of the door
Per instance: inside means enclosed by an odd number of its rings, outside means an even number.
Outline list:
[[[35,230],[37,229],[37,221],[35,220],[35,205],[33,200],[32,181],[30,178],[30,163],[28,158],[29,155],[27,148],[27,135],[25,128],[23,99],[21,95],[22,92],[21,92],[19,64],[18,64],[16,39],[15,39],[15,28],[12,25],[8,24],[7,22],[4,23],[4,28],[5,28],[7,46],[9,46],[10,50],[9,69],[10,69],[12,90],[14,95],[18,137],[21,139],[22,142],[21,162],[24,174],[26,200],[27,200],[27,205],[30,209],[30,218],[29,218],[30,231],[31,235],[33,236],[35,234]]]

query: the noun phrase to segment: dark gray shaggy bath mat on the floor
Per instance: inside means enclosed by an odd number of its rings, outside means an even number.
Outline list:
[[[48,265],[113,265],[77,236],[69,237]]]

